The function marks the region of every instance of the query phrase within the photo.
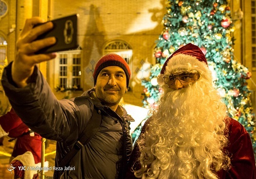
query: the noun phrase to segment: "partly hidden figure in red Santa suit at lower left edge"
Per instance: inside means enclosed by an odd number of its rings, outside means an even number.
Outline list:
[[[9,133],[8,137],[13,138],[9,140],[10,142],[16,139],[10,158],[10,164],[15,167],[15,178],[39,178],[37,170],[22,170],[19,166],[41,167],[42,137],[38,133],[30,130],[15,113],[13,108],[5,115],[0,116],[0,125]],[[46,165],[48,166],[48,162],[46,162]],[[26,175],[29,177],[26,177]]]

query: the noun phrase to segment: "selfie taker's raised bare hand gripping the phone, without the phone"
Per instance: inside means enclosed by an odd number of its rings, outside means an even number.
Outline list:
[[[47,37],[36,40],[41,34],[53,28],[52,22],[44,23],[40,17],[27,19],[23,30],[16,42],[16,55],[12,64],[12,79],[18,87],[24,87],[34,71],[37,63],[51,60],[56,57],[55,53],[35,54],[40,49],[52,46],[56,43],[55,37]],[[44,23],[34,28],[34,25]]]

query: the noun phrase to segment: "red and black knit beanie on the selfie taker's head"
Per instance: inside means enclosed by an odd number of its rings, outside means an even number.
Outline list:
[[[131,77],[130,67],[121,56],[114,53],[104,55],[96,64],[93,72],[94,85],[96,84],[97,77],[101,70],[108,66],[118,66],[123,69],[126,75],[126,86],[128,87]]]

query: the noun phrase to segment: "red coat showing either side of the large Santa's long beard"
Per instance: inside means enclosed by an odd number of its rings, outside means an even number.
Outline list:
[[[150,122],[150,119],[151,118],[145,122],[141,134],[145,132],[145,128]],[[218,177],[220,179],[256,179],[255,159],[249,133],[243,125],[235,119],[227,117],[225,121],[227,123],[226,135],[229,139],[228,147],[225,148],[225,150],[229,153],[231,158],[231,168],[228,171],[223,169],[218,171]],[[142,135],[139,138],[141,137]],[[127,167],[126,178],[136,178],[131,168],[132,166],[134,168],[139,167],[139,157],[139,146],[136,144]]]

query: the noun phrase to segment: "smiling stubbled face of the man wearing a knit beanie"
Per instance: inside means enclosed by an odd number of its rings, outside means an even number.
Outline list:
[[[105,105],[118,105],[126,92],[126,76],[123,69],[118,66],[103,68],[97,77],[95,91]]]

